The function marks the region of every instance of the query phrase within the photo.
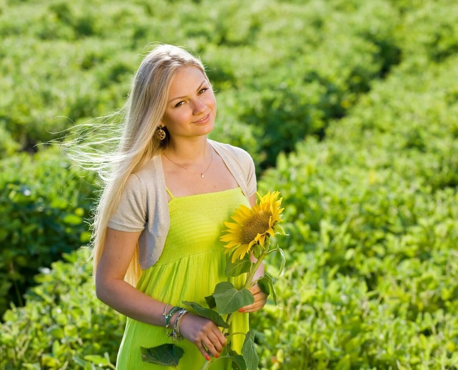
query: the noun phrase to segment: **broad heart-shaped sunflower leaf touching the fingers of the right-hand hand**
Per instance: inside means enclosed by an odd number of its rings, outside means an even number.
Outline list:
[[[218,282],[213,297],[215,297],[216,309],[220,315],[235,312],[255,301],[253,294],[248,289],[237,290],[230,282]]]

